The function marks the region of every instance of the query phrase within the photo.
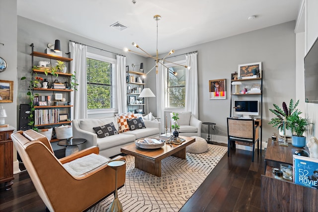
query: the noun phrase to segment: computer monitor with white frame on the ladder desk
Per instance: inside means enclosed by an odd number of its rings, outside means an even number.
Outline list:
[[[258,116],[258,100],[234,100],[234,115],[236,117],[250,118]]]

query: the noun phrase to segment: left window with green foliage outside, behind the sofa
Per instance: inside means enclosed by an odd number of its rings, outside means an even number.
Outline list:
[[[116,108],[116,60],[87,53],[87,109],[110,110]]]

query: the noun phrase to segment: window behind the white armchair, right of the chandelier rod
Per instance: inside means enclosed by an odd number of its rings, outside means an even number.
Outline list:
[[[185,61],[176,62],[185,65]],[[186,69],[175,64],[164,64],[168,69],[166,73],[165,107],[185,107],[185,73]]]

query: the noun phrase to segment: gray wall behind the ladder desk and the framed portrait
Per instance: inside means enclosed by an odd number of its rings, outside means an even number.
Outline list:
[[[268,109],[273,108],[273,103],[281,105],[283,101],[289,103],[291,98],[295,99],[294,28],[295,21],[291,21],[175,51],[176,55],[198,51],[199,119],[217,124],[216,140],[227,139],[226,118],[230,116],[231,73],[238,70],[239,64],[262,62],[263,141],[267,141],[272,132],[276,131],[267,124],[274,117]],[[185,56],[169,60],[182,59]],[[149,59],[148,68],[153,67],[153,64],[153,60]],[[227,79],[227,99],[210,100],[209,80],[223,78]],[[156,92],[155,71],[152,71],[149,80],[152,82],[148,84]],[[257,96],[251,98],[257,99]],[[155,102],[151,102],[150,111],[156,111]],[[207,126],[202,126],[202,133],[208,133]]]

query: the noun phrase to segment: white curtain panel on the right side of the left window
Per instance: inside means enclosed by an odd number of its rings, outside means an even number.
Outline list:
[[[117,86],[118,113],[125,113],[128,111],[125,67],[126,67],[126,57],[121,55],[116,55],[116,86]]]

